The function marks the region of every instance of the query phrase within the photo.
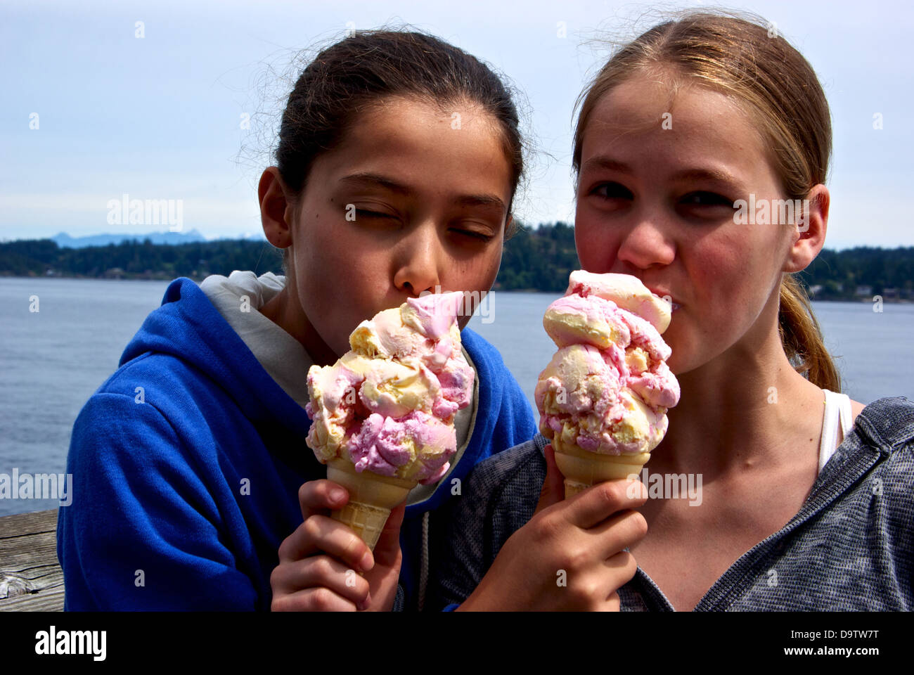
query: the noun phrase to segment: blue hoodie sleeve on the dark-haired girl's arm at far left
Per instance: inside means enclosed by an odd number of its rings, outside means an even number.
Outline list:
[[[58,556],[68,610],[253,610],[218,504],[151,403],[96,393],[73,427]]]

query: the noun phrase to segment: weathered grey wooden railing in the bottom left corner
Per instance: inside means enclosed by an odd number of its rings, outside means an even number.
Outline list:
[[[0,612],[63,611],[57,509],[0,518]]]

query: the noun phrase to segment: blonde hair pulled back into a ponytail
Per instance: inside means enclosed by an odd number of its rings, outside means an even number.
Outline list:
[[[685,11],[622,45],[585,89],[574,134],[572,166],[580,170],[590,114],[611,89],[639,71],[667,67],[671,95],[682,80],[731,95],[757,121],[770,148],[769,162],[788,198],[807,198],[825,182],[832,154],[832,124],[819,80],[802,54],[763,18],[748,13]],[[779,333],[795,370],[813,384],[841,391],[822,331],[802,285],[781,277]]]

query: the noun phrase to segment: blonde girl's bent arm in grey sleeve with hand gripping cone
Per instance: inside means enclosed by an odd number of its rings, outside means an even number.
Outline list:
[[[551,448],[545,461],[532,444],[493,457],[454,500],[435,584],[439,603],[618,610],[616,591],[637,570],[624,549],[646,533],[632,510],[643,506],[646,490],[631,485],[610,481],[566,500]]]

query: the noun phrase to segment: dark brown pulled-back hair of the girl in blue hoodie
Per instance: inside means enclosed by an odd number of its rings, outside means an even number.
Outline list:
[[[325,48],[303,70],[282,114],[275,154],[282,180],[295,196],[301,195],[314,159],[340,143],[360,112],[392,96],[439,106],[475,103],[494,117],[511,166],[510,215],[524,173],[511,91],[479,59],[416,31],[355,31]],[[512,233],[505,231],[505,239]]]

